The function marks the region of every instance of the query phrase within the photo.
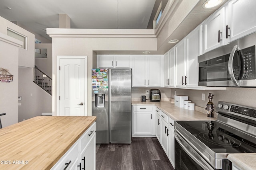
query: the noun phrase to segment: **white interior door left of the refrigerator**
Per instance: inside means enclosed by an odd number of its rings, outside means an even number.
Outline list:
[[[59,111],[61,116],[85,116],[87,110],[86,57],[59,58]]]

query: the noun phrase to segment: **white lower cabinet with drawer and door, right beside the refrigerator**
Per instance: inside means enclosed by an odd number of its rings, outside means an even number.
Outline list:
[[[133,113],[133,130],[132,136],[133,137],[152,137],[150,135],[156,135],[155,130],[155,120],[156,116],[154,111],[152,110],[154,106],[133,106],[132,113]]]

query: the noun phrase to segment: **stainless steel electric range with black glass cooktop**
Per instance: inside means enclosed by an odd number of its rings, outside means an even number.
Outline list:
[[[232,170],[228,154],[256,153],[256,108],[218,102],[216,121],[175,121],[175,170]]]

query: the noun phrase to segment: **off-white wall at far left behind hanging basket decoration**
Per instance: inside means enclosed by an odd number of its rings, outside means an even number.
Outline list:
[[[0,68],[8,69],[13,75],[12,82],[0,82],[0,113],[6,113],[1,116],[2,127],[18,123],[18,54],[21,45],[21,41],[0,33]]]

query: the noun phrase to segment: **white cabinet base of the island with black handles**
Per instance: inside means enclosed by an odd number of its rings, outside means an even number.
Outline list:
[[[72,145],[51,170],[95,170],[96,168],[96,123]]]

